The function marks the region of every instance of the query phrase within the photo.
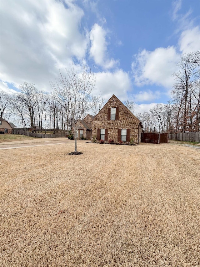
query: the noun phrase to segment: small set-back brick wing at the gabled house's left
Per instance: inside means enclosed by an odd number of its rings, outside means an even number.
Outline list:
[[[78,125],[78,130],[76,132],[77,139],[84,137],[87,140],[91,140],[91,121],[94,117],[95,116],[88,114],[83,120],[80,120],[76,123],[76,125]]]

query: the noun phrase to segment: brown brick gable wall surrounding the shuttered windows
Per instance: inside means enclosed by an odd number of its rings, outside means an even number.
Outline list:
[[[114,105],[113,105],[114,100]],[[119,107],[119,120],[108,121],[108,108]],[[108,140],[118,141],[118,129],[130,129],[130,138],[134,143],[138,143],[138,124],[139,121],[119,102],[112,98],[99,112],[92,122],[92,138],[97,136],[97,130],[108,129]]]

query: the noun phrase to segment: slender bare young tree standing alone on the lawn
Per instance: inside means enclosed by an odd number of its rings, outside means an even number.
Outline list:
[[[59,80],[52,83],[58,97],[63,102],[68,102],[68,108],[71,112],[74,130],[74,152],[77,152],[78,125],[76,122],[84,117],[84,114],[91,108],[91,92],[95,85],[94,69],[91,65],[82,63],[82,70],[79,72],[74,69],[65,69],[66,73],[60,72]]]

